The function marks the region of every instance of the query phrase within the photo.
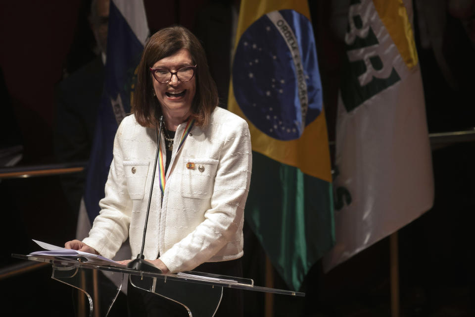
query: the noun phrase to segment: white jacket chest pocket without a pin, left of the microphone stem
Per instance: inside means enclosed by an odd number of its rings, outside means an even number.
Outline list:
[[[127,190],[133,200],[143,199],[145,181],[147,180],[149,161],[123,161]]]

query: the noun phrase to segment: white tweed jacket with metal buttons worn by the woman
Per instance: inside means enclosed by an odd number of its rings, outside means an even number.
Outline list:
[[[242,256],[252,166],[249,129],[242,118],[216,107],[210,124],[193,126],[177,153],[185,125],[175,134],[163,201],[157,166],[143,252],[145,259],[160,255],[171,272]],[[163,137],[160,143],[164,149]],[[139,125],[134,115],[124,118],[101,211],[83,240],[102,256],[112,258],[127,237],[132,258],[140,253],[156,146],[154,129]],[[194,168],[187,167],[189,162]]]

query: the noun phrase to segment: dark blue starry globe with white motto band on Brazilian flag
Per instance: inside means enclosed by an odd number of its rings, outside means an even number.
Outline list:
[[[266,135],[300,138],[322,111],[311,22],[295,10],[267,13],[239,39],[233,89],[245,116]]]

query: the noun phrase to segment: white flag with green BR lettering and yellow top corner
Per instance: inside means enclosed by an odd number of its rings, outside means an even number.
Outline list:
[[[348,22],[336,122],[335,245],[326,271],[433,204],[412,1],[352,0]]]

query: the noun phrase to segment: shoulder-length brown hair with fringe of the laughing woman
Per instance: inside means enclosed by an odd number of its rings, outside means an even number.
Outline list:
[[[154,127],[162,115],[160,103],[154,96],[153,77],[149,68],[158,60],[171,56],[181,49],[188,49],[195,70],[196,93],[191,104],[195,125],[206,126],[211,112],[218,105],[218,90],[211,78],[206,54],[199,40],[185,27],[172,26],[153,34],[145,44],[137,72],[137,86],[132,101],[132,113],[144,127]]]

